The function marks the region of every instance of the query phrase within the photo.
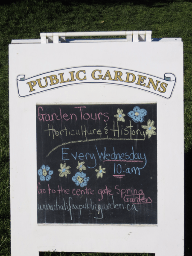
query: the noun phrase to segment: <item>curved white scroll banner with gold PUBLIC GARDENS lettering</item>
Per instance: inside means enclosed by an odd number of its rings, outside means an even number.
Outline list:
[[[105,66],[70,67],[28,79],[25,79],[25,75],[17,76],[17,89],[20,97],[85,83],[128,86],[169,99],[175,87],[176,77],[172,73],[166,73],[163,79],[138,71]]]

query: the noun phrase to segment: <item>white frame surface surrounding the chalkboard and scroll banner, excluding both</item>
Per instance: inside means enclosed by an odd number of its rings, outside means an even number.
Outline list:
[[[13,42],[9,46],[12,256],[38,256],[39,251],[52,250],[182,256],[184,151],[181,40],[33,43]],[[134,70],[136,76],[150,74],[162,79],[162,83],[165,74],[169,73],[174,75],[175,80],[172,79],[174,85],[167,97],[105,81],[79,81],[71,86],[55,86],[55,90],[39,90],[31,96],[30,93],[29,96],[20,94],[23,91],[18,87],[18,81],[21,83],[35,76],[38,79],[41,74],[51,74],[55,70],[87,66]],[[18,79],[20,76],[23,80]],[[140,83],[144,84],[144,80]],[[32,85],[33,91],[35,87]],[[93,102],[157,103],[157,225],[37,224],[36,104]],[[26,183],[26,180],[30,182]]]

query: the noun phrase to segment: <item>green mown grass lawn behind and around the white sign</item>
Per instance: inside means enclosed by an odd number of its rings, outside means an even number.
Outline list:
[[[12,39],[40,38],[40,32],[152,30],[153,38],[182,38],[184,46],[184,117],[186,173],[192,153],[192,2],[185,0],[92,1],[20,0],[0,5],[0,255],[10,255],[9,210],[9,63]],[[186,174],[186,178],[187,174]],[[189,183],[186,187],[190,188]],[[186,195],[186,200],[190,199]],[[186,224],[191,224],[186,205]],[[186,229],[186,255],[191,233]],[[105,256],[101,253],[41,255]],[[121,254],[121,256],[124,254]],[[151,256],[152,254],[130,254]]]

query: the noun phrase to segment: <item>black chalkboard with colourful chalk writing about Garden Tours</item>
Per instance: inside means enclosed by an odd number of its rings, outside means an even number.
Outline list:
[[[37,105],[38,223],[157,224],[157,105]]]

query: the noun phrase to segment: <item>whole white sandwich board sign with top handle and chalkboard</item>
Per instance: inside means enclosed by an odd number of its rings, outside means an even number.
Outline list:
[[[12,256],[183,255],[180,38],[13,40],[9,97]]]

